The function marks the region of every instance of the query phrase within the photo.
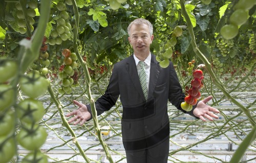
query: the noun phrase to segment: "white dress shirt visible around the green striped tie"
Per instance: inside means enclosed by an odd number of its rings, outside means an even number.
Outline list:
[[[133,55],[135,64],[137,66],[138,75],[140,74],[141,66],[139,64],[139,59]],[[151,54],[148,55],[148,57],[144,60],[144,67],[146,71],[146,85],[147,85],[147,92],[148,92],[148,86],[150,85],[150,63],[151,63]]]

